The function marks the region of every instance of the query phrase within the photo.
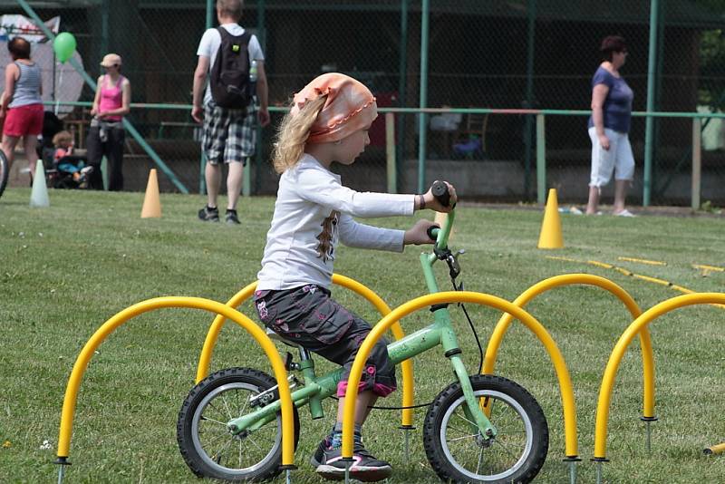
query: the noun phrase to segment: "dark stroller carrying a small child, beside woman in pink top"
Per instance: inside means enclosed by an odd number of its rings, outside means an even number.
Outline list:
[[[94,167],[82,156],[56,157],[53,137],[63,130],[63,122],[52,111],[45,111],[43,135],[38,140],[38,158],[43,160],[47,184],[53,189],[87,189]]]

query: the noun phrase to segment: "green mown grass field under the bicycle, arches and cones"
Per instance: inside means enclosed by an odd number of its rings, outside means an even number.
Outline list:
[[[141,219],[140,193],[51,191],[51,208],[28,208],[29,189],[0,198],[0,482],[51,482],[63,393],[73,362],[92,333],[125,307],[159,295],[195,295],[226,302],[253,281],[272,214],[273,198],[243,199],[241,227],[196,219],[200,197],[162,196],[163,218]],[[419,212],[420,214],[420,212]],[[428,215],[428,213],[424,214]],[[528,286],[565,273],[604,276],[623,286],[644,309],[680,295],[672,288],[603,267],[546,258],[597,260],[659,277],[699,292],[725,292],[725,273],[704,275],[692,264],[725,266],[725,218],[613,218],[563,216],[565,249],[536,249],[538,210],[487,209],[460,204],[451,247],[465,248],[462,280],[472,291],[513,300]],[[410,219],[376,220],[408,227]],[[418,247],[404,254],[343,247],[336,272],[371,287],[394,307],[425,291]],[[648,266],[619,260],[666,262]],[[440,286],[446,283],[439,267]],[[372,306],[340,289],[335,293],[368,320]],[[553,335],[575,387],[579,482],[594,482],[594,411],[604,365],[631,317],[622,303],[590,286],[559,288],[527,309]],[[249,305],[240,309],[255,318]],[[469,307],[479,334],[500,316]],[[403,322],[406,332],[428,324],[427,311]],[[454,313],[454,316],[460,316]],[[213,315],[167,309],[121,326],[94,355],[82,381],[66,482],[198,482],[179,455],[176,419],[193,385],[198,354]],[[256,318],[255,318],[256,319]],[[457,318],[471,372],[478,350],[465,320]],[[656,320],[656,414],[652,453],[644,447],[642,363],[638,345],[623,359],[614,389],[605,482],[722,482],[725,457],[702,448],[725,440],[725,310],[709,305],[676,310]],[[318,359],[319,360],[319,359]],[[416,402],[430,402],[451,382],[440,353],[414,360]],[[541,344],[514,324],[501,347],[497,373],[524,385],[546,413],[551,440],[536,482],[567,482],[564,431],[556,375]],[[222,331],[212,370],[251,366],[269,372],[262,353],[237,327]],[[318,361],[318,368],[329,368]],[[400,392],[387,404],[400,402]],[[294,482],[317,482],[307,464],[333,418],[311,421],[301,411],[302,437]],[[425,415],[416,411],[416,424]],[[373,411],[365,440],[391,460],[391,483],[436,482],[420,430],[405,456],[398,411]],[[42,449],[48,440],[50,449]],[[48,447],[48,446],[45,446]]]

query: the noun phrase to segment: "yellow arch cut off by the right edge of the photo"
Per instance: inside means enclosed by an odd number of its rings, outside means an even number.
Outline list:
[[[609,404],[612,402],[612,389],[614,387],[614,376],[616,376],[619,363],[622,362],[624,352],[632,343],[635,334],[639,334],[643,327],[650,324],[655,318],[669,313],[673,309],[685,305],[710,305],[725,304],[725,294],[723,293],[694,293],[689,295],[678,295],[662,301],[658,305],[653,305],[645,311],[632,324],[630,324],[624,333],[619,337],[614,350],[609,355],[609,361],[604,369],[604,377],[602,378],[602,386],[599,389],[599,400],[596,405],[596,424],[594,428],[594,459],[604,460],[606,454],[606,427],[609,421]],[[352,376],[352,375],[351,375]]]

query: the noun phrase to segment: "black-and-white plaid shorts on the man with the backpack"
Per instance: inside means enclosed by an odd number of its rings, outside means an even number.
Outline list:
[[[246,110],[221,108],[214,100],[204,106],[204,131],[201,149],[212,165],[241,161],[255,153],[256,109],[254,104]]]

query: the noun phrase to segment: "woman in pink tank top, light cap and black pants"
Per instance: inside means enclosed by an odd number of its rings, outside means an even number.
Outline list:
[[[131,82],[121,75],[121,56],[109,53],[101,65],[106,73],[98,78],[93,100],[91,130],[88,133],[88,162],[95,167],[91,180],[92,189],[103,189],[101,160],[108,160],[109,190],[123,189],[123,116],[130,111]]]

